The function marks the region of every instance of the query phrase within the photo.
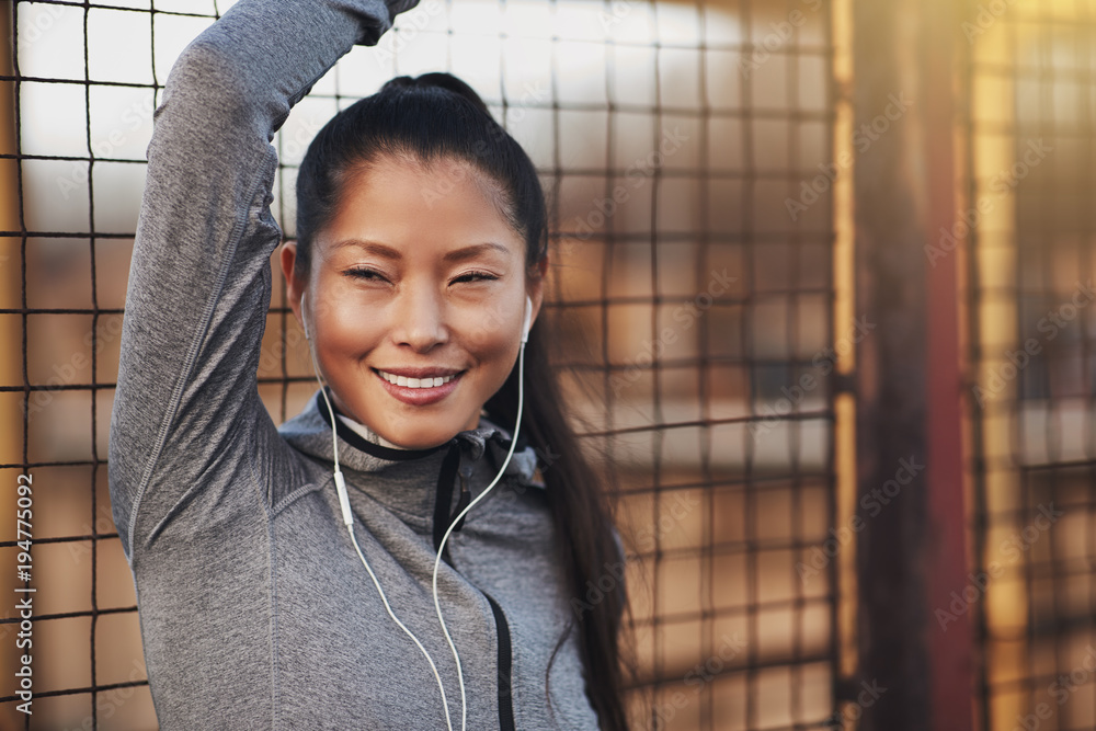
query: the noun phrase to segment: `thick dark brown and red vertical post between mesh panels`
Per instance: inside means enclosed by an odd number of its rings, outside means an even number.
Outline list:
[[[867,730],[972,729],[952,64],[961,5],[855,5],[859,679]],[[886,688],[886,690],[881,690]]]

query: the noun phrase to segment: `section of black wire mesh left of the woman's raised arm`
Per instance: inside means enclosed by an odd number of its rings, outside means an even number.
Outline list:
[[[156,724],[106,436],[152,111],[180,44],[215,8],[161,3],[153,15],[144,4],[3,7],[3,185],[18,205],[0,232],[0,408],[16,422],[4,424],[0,469],[5,496],[31,480],[33,500],[25,523],[14,496],[2,509],[5,586],[19,597],[0,630],[5,729]]]

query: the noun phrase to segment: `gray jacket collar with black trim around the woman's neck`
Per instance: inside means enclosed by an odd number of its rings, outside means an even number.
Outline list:
[[[367,439],[338,419],[338,411],[335,415],[339,462],[352,496],[356,488],[403,513],[420,517],[433,515],[435,534],[438,534],[438,525],[443,533],[448,527],[447,518],[450,516],[446,509],[455,491],[459,490],[455,488],[458,470],[471,476],[469,489],[475,496],[498,473],[510,449],[510,432],[486,416],[480,418],[477,429],[459,432],[438,446],[399,449]],[[376,436],[367,429],[362,431]],[[278,432],[299,452],[324,462],[333,462],[331,418],[319,390],[298,415],[278,427]],[[484,455],[489,455],[487,459]],[[488,473],[486,480],[480,479]],[[524,434],[517,436],[514,456],[504,476],[516,478],[518,484],[545,487],[537,470],[536,452]]]

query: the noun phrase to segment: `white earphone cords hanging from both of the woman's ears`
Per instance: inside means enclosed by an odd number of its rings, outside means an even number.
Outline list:
[[[453,643],[453,638],[449,636],[449,629],[445,626],[445,619],[442,617],[442,605],[437,598],[437,569],[442,562],[442,553],[445,551],[445,541],[449,539],[449,535],[453,533],[453,527],[460,523],[461,518],[470,511],[476,503],[483,500],[487,493],[499,482],[499,479],[506,471],[506,467],[510,466],[510,459],[514,456],[514,446],[517,444],[517,432],[522,426],[522,409],[525,402],[525,342],[528,338],[529,332],[529,316],[532,315],[532,302],[526,299],[525,309],[525,321],[522,323],[522,344],[521,350],[517,353],[517,421],[514,424],[514,433],[510,441],[510,450],[506,453],[506,459],[502,462],[502,467],[499,469],[499,473],[494,476],[491,480],[491,484],[481,492],[476,500],[468,503],[460,513],[457,514],[456,518],[449,523],[449,527],[446,529],[445,535],[442,536],[442,541],[437,547],[437,557],[434,559],[434,572],[432,578],[432,589],[434,594],[434,610],[437,613],[437,621],[442,625],[442,632],[445,633],[445,640],[449,643],[449,649],[453,651],[453,660],[457,665],[457,682],[460,685],[460,731],[465,731],[466,719],[468,716],[468,705],[465,696],[465,674],[460,667],[460,655],[457,653],[457,647]],[[365,560],[365,553],[362,552],[362,547],[357,542],[357,536],[354,535],[354,514],[350,509],[350,496],[346,493],[346,481],[343,478],[342,469],[339,466],[339,441],[335,432],[335,412],[331,407],[331,399],[328,398],[328,392],[323,387],[323,379],[320,378],[320,366],[316,359],[316,351],[312,349],[312,340],[308,334],[308,324],[305,318],[305,296],[300,296],[300,321],[304,324],[305,340],[308,341],[308,354],[312,361],[312,373],[316,374],[316,381],[320,385],[320,393],[323,396],[323,401],[328,407],[328,414],[331,416],[331,449],[334,454],[334,481],[335,490],[339,493],[339,506],[342,510],[343,523],[346,525],[346,530],[350,533],[350,539],[354,544],[354,550],[357,551],[357,557],[362,559],[362,564],[365,566],[365,570],[369,572],[369,578],[373,580],[373,585],[377,587],[377,593],[380,595],[380,601],[385,604],[385,609],[388,612],[388,616],[392,618],[399,628],[411,638],[415,643],[415,647],[422,652],[423,656],[426,658],[426,662],[430,663],[430,670],[434,673],[434,679],[437,681],[437,689],[442,694],[442,707],[445,709],[445,726],[448,731],[453,731],[453,721],[449,718],[449,703],[445,697],[445,687],[442,685],[442,676],[437,673],[437,666],[434,664],[433,658],[426,652],[426,648],[422,646],[419,638],[407,628],[407,626],[400,621],[396,613],[392,612],[392,607],[388,604],[388,597],[385,596],[385,591],[380,587],[380,582],[377,580],[377,575],[373,573],[373,569],[369,567],[369,562]]]

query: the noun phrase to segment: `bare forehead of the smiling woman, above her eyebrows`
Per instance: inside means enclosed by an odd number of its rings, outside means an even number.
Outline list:
[[[503,215],[498,189],[463,160],[426,164],[384,156],[347,178],[322,238],[328,243],[380,241],[409,254],[439,255],[491,241],[523,255],[524,241]]]

